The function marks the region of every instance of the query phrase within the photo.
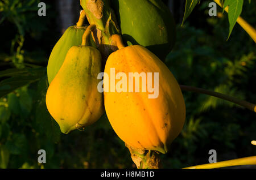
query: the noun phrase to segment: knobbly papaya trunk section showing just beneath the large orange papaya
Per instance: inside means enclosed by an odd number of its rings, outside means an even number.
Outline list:
[[[159,169],[160,157],[155,151],[133,148],[128,144],[125,146],[131,153],[131,159],[138,169]]]

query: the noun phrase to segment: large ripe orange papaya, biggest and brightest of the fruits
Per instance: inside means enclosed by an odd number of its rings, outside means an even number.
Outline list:
[[[118,35],[112,39],[119,50],[109,55],[104,70],[108,75],[104,75],[104,105],[109,122],[119,138],[131,147],[166,153],[185,121],[180,86],[168,67],[150,50],[141,45],[125,47]],[[122,74],[118,75],[119,72]],[[139,80],[131,73],[138,73]],[[109,80],[110,74],[121,80]],[[125,83],[129,85],[124,86]],[[150,84],[158,96],[152,97]],[[109,90],[111,87],[115,90]]]

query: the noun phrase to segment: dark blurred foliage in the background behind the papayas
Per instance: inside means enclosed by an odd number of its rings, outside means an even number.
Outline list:
[[[38,16],[38,0],[0,1],[0,168],[135,168],[129,150],[106,115],[85,131],[60,133],[45,103],[49,54],[61,36],[56,1],[44,1],[47,16]],[[164,1],[167,3],[167,1]],[[228,16],[208,15],[208,3],[196,6],[183,27],[183,3],[174,3],[175,48],[166,65],[180,84],[205,88],[256,104],[255,43],[237,24],[229,32]],[[256,2],[245,2],[242,17],[256,24]],[[181,6],[181,7],[180,7]],[[79,13],[79,12],[77,12]],[[255,113],[207,95],[183,92],[187,118],[162,168],[255,156]],[[38,164],[45,149],[47,163]]]

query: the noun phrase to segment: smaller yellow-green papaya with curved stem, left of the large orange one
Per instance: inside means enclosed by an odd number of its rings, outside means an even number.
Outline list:
[[[97,90],[101,54],[88,45],[94,27],[88,26],[81,46],[68,50],[63,65],[47,89],[47,109],[64,134],[91,125],[104,112],[102,93]]]

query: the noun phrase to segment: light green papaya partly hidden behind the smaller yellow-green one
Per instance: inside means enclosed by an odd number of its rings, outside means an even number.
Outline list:
[[[82,16],[85,14],[81,13],[80,21],[76,25],[72,25],[63,33],[59,41],[55,44],[52,49],[52,52],[49,56],[48,65],[47,65],[47,77],[48,83],[50,84],[59,71],[61,65],[64,62],[65,56],[68,53],[68,50],[72,46],[78,46],[82,43],[82,35],[85,32],[85,29],[88,25],[82,26]],[[92,46],[96,46],[93,37],[90,38],[90,43]]]

